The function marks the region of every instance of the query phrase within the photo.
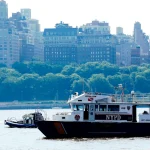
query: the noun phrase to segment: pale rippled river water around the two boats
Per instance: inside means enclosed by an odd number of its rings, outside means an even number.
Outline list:
[[[35,110],[0,110],[0,150],[150,150],[150,138],[44,139],[37,129],[8,128],[4,120]],[[44,110],[50,117],[62,110]],[[63,109],[64,111],[64,109]],[[68,110],[66,110],[68,111]],[[141,129],[142,130],[142,129]]]

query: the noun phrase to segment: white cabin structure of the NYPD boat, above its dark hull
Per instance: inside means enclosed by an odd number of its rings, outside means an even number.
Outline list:
[[[71,112],[57,113],[57,121],[137,122],[137,103],[118,102],[114,96],[76,92],[68,100]],[[150,122],[150,113],[139,115],[140,122]]]

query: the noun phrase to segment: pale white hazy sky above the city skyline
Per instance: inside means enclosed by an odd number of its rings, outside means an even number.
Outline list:
[[[71,26],[80,26],[100,20],[109,22],[111,33],[121,26],[125,34],[133,33],[135,21],[142,24],[150,34],[150,0],[6,0],[9,16],[21,8],[31,8],[32,18],[38,19],[41,29],[54,27],[63,21]]]

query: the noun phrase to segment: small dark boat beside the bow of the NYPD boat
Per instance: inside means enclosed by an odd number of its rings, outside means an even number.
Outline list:
[[[23,115],[22,120],[17,120],[14,117],[7,119],[4,124],[11,128],[36,128],[36,122],[40,120],[44,120],[42,113],[35,112]]]

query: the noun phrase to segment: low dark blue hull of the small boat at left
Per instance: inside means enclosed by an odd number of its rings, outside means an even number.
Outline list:
[[[7,120],[5,120],[5,125],[8,125],[11,128],[36,128],[37,127],[35,124],[23,124],[23,123],[7,121]]]

